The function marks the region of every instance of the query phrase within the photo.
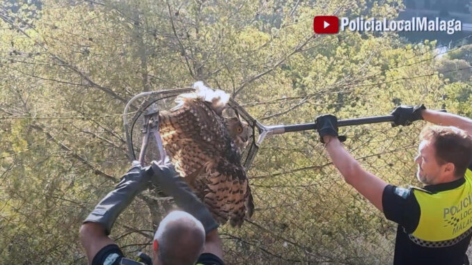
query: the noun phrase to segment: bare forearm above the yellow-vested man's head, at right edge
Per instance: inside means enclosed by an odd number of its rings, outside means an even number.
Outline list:
[[[432,111],[425,109],[421,112],[423,120],[434,123],[435,125],[454,126],[467,131],[472,135],[472,120],[466,117],[455,115],[453,113],[445,113],[441,111]]]

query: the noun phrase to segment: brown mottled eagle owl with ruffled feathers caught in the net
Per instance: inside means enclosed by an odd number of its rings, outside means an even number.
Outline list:
[[[254,204],[239,149],[251,130],[239,117],[225,117],[229,95],[202,82],[195,93],[179,95],[171,111],[159,114],[164,149],[175,170],[221,224],[240,226]],[[229,109],[230,110],[230,109]]]

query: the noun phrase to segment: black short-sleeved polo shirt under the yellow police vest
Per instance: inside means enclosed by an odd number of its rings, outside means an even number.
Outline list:
[[[465,179],[461,178],[454,182],[428,185],[423,189],[438,193],[457,188],[464,183]],[[471,241],[472,234],[470,233],[453,246],[443,248],[420,246],[410,239],[410,234],[418,227],[421,214],[420,205],[412,189],[388,185],[382,195],[382,206],[386,218],[398,223],[393,264],[469,264],[465,253]]]

